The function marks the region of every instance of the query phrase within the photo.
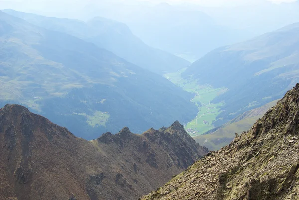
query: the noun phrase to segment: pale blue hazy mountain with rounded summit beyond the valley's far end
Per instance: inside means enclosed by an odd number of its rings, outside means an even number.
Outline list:
[[[138,17],[124,21],[136,35],[153,47],[186,58],[198,59],[215,48],[248,38],[246,32],[221,26],[192,8],[161,3],[135,14]]]

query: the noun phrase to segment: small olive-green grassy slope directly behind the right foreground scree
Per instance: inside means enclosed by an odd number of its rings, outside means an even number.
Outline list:
[[[235,133],[243,133],[276,104],[277,100],[267,103],[259,108],[246,111],[238,117],[230,120],[226,124],[214,128],[193,139],[200,145],[209,150],[217,151],[222,147],[229,145],[236,137]]]

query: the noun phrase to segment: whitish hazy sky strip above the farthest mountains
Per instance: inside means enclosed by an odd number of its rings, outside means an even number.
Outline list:
[[[114,5],[110,6],[109,9],[117,10],[120,4],[155,4],[161,2],[168,2],[172,4],[176,3],[196,3],[200,6],[207,7],[235,7],[242,5],[255,5],[262,4],[263,6],[268,6],[269,1],[272,2],[292,2],[296,0],[0,0],[0,9],[15,9],[18,11],[32,12],[47,16],[57,16],[57,17],[79,17],[78,13],[89,4],[89,7],[101,8],[103,2],[111,4],[115,2]],[[122,3],[120,3],[122,2]],[[105,7],[105,6],[104,6]],[[105,8],[104,8],[105,9]],[[127,12],[130,12],[130,8],[126,8]],[[104,15],[105,16],[105,15]]]

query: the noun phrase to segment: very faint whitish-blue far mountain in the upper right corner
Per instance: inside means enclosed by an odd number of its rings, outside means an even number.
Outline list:
[[[291,1],[291,0],[290,0]],[[269,0],[249,0],[239,6],[198,7],[219,24],[235,29],[243,29],[252,37],[274,31],[299,21],[299,3],[273,3]],[[192,5],[190,5],[192,6]]]

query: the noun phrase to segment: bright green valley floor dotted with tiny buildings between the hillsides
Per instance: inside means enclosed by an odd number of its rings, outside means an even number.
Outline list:
[[[198,114],[192,121],[184,125],[186,131],[194,137],[215,128],[213,122],[219,115],[221,106],[223,106],[224,103],[211,103],[211,101],[225,93],[227,89],[213,88],[208,84],[199,85],[199,82],[192,78],[183,79],[181,73],[184,71],[185,69],[175,73],[168,73],[165,74],[164,77],[185,91],[195,95],[190,101],[198,107]]]

